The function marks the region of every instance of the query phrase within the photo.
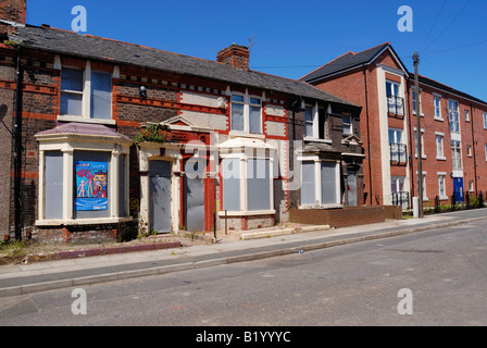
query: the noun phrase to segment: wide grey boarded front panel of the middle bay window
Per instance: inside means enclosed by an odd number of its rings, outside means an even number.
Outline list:
[[[247,209],[271,209],[271,177],[269,160],[247,160]]]

